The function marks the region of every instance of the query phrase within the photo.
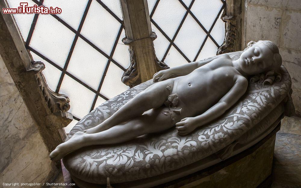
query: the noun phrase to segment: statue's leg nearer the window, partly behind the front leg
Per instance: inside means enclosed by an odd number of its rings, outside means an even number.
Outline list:
[[[92,134],[107,130],[115,125],[122,124],[135,117],[141,116],[149,109],[158,108],[163,105],[170,94],[167,85],[173,85],[173,80],[157,82],[137,94],[132,100],[124,104],[110,118],[101,124],[83,132]]]

